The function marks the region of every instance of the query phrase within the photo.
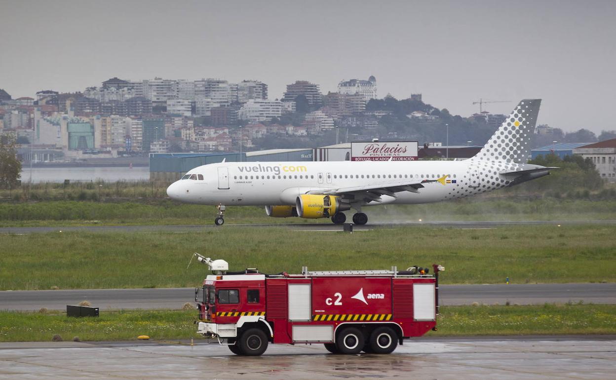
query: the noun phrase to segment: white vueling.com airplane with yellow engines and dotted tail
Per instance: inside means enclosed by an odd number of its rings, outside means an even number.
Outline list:
[[[225,162],[190,169],[169,185],[177,201],[216,205],[224,224],[227,205],[265,206],[270,217],[331,218],[366,224],[362,212],[379,204],[447,201],[509,187],[549,174],[528,164],[541,99],[524,99],[477,155],[463,161]]]

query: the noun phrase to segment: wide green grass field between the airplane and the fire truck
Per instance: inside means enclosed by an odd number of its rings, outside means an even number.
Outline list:
[[[405,227],[344,232],[208,228],[197,233],[1,235],[0,289],[195,286],[208,274],[193,252],[231,270],[265,273],[445,265],[443,283],[616,281],[616,225]]]

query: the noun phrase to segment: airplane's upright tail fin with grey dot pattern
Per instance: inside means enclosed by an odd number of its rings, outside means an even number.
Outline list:
[[[541,99],[521,100],[474,158],[527,163],[530,159],[529,143],[535,133],[540,104]]]

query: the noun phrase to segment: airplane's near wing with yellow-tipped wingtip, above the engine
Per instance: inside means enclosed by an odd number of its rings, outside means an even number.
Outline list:
[[[396,193],[399,192],[411,192],[419,193],[419,189],[424,187],[424,184],[432,182],[439,182],[445,185],[447,176],[442,176],[439,179],[424,179],[424,180],[411,180],[411,181],[398,181],[390,182],[389,184],[378,185],[365,185],[354,187],[340,187],[331,189],[319,189],[312,190],[308,194],[322,194],[322,195],[338,195],[349,196],[347,201],[360,201],[360,200],[372,200],[381,202],[381,195],[389,195],[394,198],[397,197]]]

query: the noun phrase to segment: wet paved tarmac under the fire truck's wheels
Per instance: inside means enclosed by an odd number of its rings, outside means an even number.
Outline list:
[[[34,348],[33,348],[34,347]],[[238,357],[212,344],[0,344],[0,379],[616,379],[616,336],[419,338],[391,355],[272,344]]]

